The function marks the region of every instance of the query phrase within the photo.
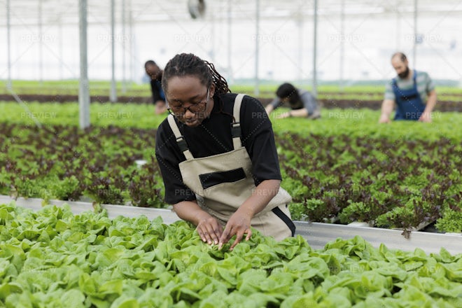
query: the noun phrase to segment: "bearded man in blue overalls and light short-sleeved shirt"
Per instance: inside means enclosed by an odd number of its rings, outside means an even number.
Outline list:
[[[379,123],[390,122],[390,115],[395,106],[394,120],[431,122],[431,113],[436,104],[436,91],[428,73],[410,70],[407,57],[402,52],[393,54],[391,65],[398,76],[386,85]]]

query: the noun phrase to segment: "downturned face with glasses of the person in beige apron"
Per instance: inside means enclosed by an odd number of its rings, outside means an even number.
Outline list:
[[[215,85],[203,85],[196,76],[174,76],[167,80],[168,108],[181,123],[199,126],[214,108]]]

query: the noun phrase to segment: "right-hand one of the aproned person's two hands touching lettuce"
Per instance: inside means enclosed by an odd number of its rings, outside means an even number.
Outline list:
[[[221,249],[223,244],[228,243],[234,235],[236,235],[236,239],[230,246],[230,251],[239,244],[244,235],[246,235],[246,241],[251,238],[251,215],[241,212],[242,211],[239,211],[238,209],[235,214],[232,214],[228,223],[226,223],[225,230],[223,230],[223,234],[221,235],[218,243],[218,249]]]

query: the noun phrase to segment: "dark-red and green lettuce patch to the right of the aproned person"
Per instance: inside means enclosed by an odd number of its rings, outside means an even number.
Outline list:
[[[283,132],[276,141],[297,218],[413,230],[461,204],[461,148],[448,139]]]

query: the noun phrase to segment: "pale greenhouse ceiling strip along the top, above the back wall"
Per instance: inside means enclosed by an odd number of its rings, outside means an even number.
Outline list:
[[[114,3],[116,22],[131,18],[134,23],[179,22],[190,20],[189,4],[202,0],[105,0],[87,1],[87,20],[90,24],[107,24]],[[204,18],[252,19],[259,6],[260,18],[310,18],[314,13],[314,0],[203,0]],[[7,25],[9,6],[10,26],[72,25],[78,23],[76,0],[1,0],[0,27]],[[410,14],[416,6],[419,14],[447,15],[462,12],[458,0],[323,0],[317,1],[318,15]],[[123,14],[122,12],[125,12]],[[230,12],[230,15],[228,15]],[[127,20],[125,20],[127,21]]]

